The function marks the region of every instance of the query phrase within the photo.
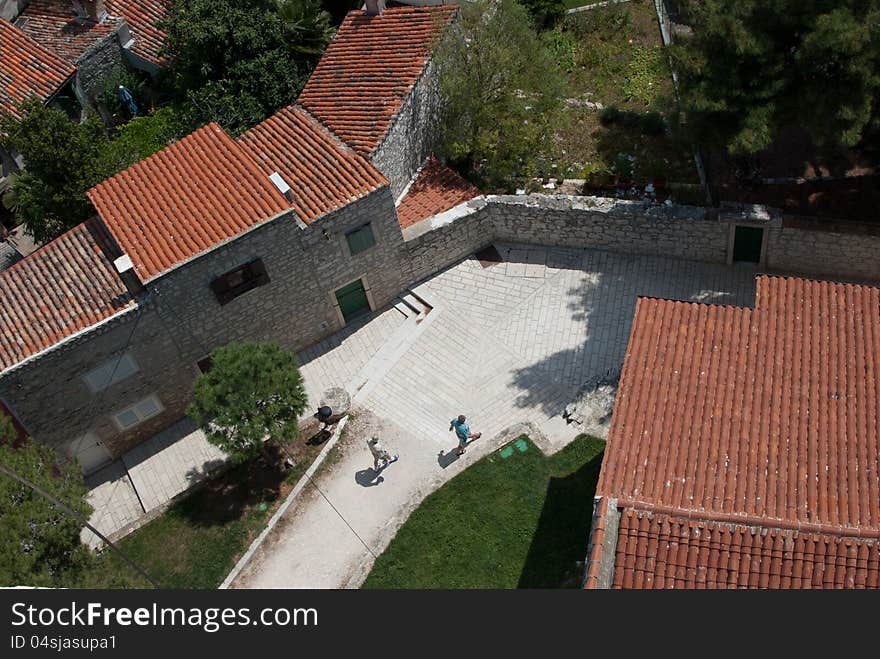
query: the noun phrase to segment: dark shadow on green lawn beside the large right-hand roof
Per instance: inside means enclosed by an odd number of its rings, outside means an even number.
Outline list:
[[[573,474],[550,479],[518,588],[580,586],[603,455]]]

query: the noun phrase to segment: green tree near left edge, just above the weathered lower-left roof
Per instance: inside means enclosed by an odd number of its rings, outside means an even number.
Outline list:
[[[96,118],[78,124],[38,100],[25,103],[21,114],[0,116],[0,135],[25,159],[12,186],[16,217],[43,242],[93,212],[85,192],[100,180],[96,165],[107,138]]]

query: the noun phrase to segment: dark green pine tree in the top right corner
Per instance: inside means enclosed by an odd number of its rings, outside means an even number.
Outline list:
[[[779,130],[857,144],[880,108],[880,0],[700,0],[673,48],[698,138],[745,155]]]

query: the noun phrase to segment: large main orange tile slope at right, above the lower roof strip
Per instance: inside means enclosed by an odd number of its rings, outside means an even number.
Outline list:
[[[880,538],[878,375],[880,288],[762,276],[754,310],[641,298],[597,496]]]

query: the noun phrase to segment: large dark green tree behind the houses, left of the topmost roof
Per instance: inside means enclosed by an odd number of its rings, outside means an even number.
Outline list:
[[[249,128],[294,101],[332,36],[318,0],[177,0],[168,80],[194,123]]]

